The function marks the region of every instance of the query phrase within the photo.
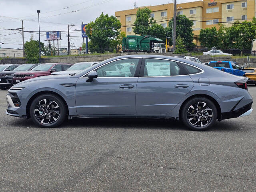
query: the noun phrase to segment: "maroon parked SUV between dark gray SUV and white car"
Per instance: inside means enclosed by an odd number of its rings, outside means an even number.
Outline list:
[[[69,63],[44,63],[36,66],[28,72],[17,72],[14,73],[12,78],[13,84],[17,84],[27,79],[50,75],[52,72],[65,71],[70,68],[72,64]]]

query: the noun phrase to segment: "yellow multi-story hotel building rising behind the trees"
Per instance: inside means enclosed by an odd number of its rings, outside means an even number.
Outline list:
[[[164,28],[168,26],[168,22],[172,19],[174,12],[173,3],[144,7],[148,7],[152,11],[151,17],[158,24],[161,24]],[[126,35],[134,35],[132,27],[136,20],[137,11],[138,8],[116,12],[116,18],[122,24],[121,30],[126,32]],[[226,25],[230,26],[236,20],[240,22],[252,20],[253,16],[256,16],[256,0],[194,1],[177,4],[176,12],[177,15],[183,14],[193,20],[194,43],[200,45],[198,36],[202,28],[216,26],[218,29],[218,22],[227,22]]]

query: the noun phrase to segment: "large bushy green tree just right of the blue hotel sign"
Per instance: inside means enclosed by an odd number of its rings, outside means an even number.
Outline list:
[[[94,22],[86,26],[86,34],[90,39],[90,44],[98,48],[98,52],[104,52],[109,48],[111,39],[120,34],[121,23],[114,16],[104,15],[103,12]]]

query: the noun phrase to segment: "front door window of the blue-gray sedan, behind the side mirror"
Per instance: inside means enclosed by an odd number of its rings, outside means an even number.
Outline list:
[[[122,59],[97,69],[98,77],[134,77],[140,59]]]

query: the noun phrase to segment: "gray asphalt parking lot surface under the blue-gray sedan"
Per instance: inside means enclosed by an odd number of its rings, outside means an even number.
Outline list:
[[[249,86],[256,100],[256,87]],[[35,127],[5,114],[0,90],[0,191],[255,191],[256,102],[250,116],[207,132],[180,122],[76,119]]]

